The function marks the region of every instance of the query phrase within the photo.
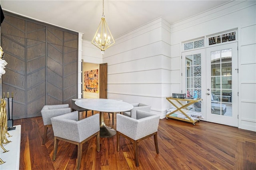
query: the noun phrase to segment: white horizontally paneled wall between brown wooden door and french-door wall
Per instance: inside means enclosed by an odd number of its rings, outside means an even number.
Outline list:
[[[170,96],[170,25],[161,18],[115,39],[105,51],[108,98],[144,103],[165,117]]]

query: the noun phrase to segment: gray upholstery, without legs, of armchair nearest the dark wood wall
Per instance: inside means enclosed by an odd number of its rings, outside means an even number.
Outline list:
[[[59,115],[63,115],[66,113],[70,113],[70,108],[63,108],[63,109],[50,109],[50,110],[42,110],[41,115],[44,122],[44,125],[51,125],[51,118],[56,117]]]

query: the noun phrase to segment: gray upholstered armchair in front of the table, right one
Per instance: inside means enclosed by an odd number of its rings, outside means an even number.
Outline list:
[[[116,115],[116,137],[117,151],[119,151],[120,135],[128,138],[133,142],[134,158],[136,166],[139,166],[138,161],[138,142],[154,135],[156,153],[159,153],[157,142],[157,130],[159,124],[159,115],[148,113],[145,111],[136,111],[137,119],[133,119],[121,114]]]

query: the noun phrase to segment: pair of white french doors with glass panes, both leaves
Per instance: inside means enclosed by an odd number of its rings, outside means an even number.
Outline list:
[[[204,121],[238,127],[237,43],[182,53],[182,89]]]

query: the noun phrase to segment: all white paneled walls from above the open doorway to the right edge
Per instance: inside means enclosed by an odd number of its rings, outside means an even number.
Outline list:
[[[163,118],[170,107],[165,97],[182,90],[182,42],[237,29],[238,127],[256,131],[255,11],[256,1],[231,1],[172,24],[171,28],[158,18],[116,38],[103,59],[99,49],[83,41],[83,57],[85,62],[108,63],[108,98],[151,105],[151,112]]]

